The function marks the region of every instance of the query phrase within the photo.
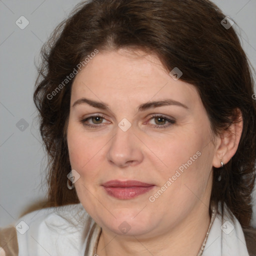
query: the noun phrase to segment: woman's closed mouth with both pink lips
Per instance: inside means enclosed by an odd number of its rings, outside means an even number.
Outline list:
[[[106,193],[118,199],[132,199],[144,194],[154,187],[154,184],[138,180],[109,180],[102,184]]]

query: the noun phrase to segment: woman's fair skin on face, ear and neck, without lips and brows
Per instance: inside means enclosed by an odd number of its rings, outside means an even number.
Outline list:
[[[105,102],[109,110],[87,103],[72,106],[81,97]],[[137,111],[141,103],[165,98],[187,108],[165,105]],[[93,114],[104,117],[86,123],[100,127],[80,122]],[[123,118],[131,123],[127,131],[118,127]],[[156,56],[128,49],[99,51],[74,79],[67,126],[71,167],[80,174],[74,183],[78,198],[102,228],[96,253],[196,255],[210,221],[212,166],[220,167],[221,159],[226,163],[235,153],[242,120],[230,129],[232,134],[225,131],[213,137],[195,87],[174,80]],[[197,151],[200,156],[155,201],[149,201]],[[101,186],[112,179],[155,186],[133,199],[117,199]],[[123,221],[130,226],[125,234],[118,228]]]

